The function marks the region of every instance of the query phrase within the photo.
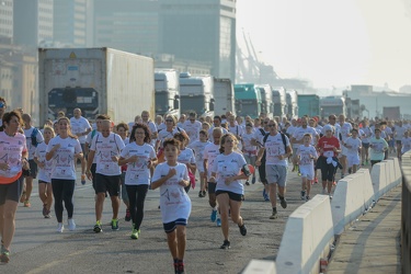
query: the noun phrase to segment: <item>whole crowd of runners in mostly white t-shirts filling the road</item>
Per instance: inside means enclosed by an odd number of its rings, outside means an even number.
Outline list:
[[[71,115],[70,115],[71,116]],[[77,180],[92,182],[95,192],[95,233],[103,231],[106,197],[112,204],[111,229],[119,229],[123,201],[132,239],[138,239],[145,198],[159,189],[160,210],[175,273],[184,273],[186,226],[192,208],[187,195],[199,183],[198,197],[208,197],[210,220],[221,227],[221,249],[230,248],[229,218],[247,235],[241,217],[244,185],[261,182],[262,199],[287,207],[287,173],[301,176],[301,199],[310,199],[312,184],[332,198],[335,181],[388,153],[411,149],[411,124],[406,121],[355,119],[344,115],[300,118],[235,116],[225,113],[197,117],[195,113],[156,116],[142,111],[132,123],[114,124],[106,114],[93,123],[76,109],[72,117],[59,113],[43,128],[32,125],[22,110],[7,110],[0,98],[0,233],[1,262],[10,260],[15,212],[31,207],[33,181],[38,181],[44,218],[57,219],[57,232],[76,230],[72,197]],[[289,169],[288,169],[289,167]],[[340,170],[340,173],[338,172]],[[319,182],[320,181],[320,182]],[[202,199],[199,199],[202,201]],[[201,202],[196,202],[201,203]],[[54,205],[54,207],[53,207]],[[123,216],[123,215],[122,215]],[[105,229],[105,228],[104,228]]]

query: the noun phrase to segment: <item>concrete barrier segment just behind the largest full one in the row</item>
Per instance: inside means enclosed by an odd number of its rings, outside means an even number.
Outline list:
[[[341,235],[345,228],[369,208],[374,199],[372,179],[367,170],[341,179],[331,201],[334,235]]]

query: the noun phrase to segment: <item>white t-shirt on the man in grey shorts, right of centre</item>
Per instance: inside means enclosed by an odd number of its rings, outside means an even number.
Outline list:
[[[289,139],[287,136],[284,136],[284,137],[286,141],[286,146],[288,147]],[[266,152],[265,165],[275,164],[275,165],[288,167],[287,159],[283,159],[283,160],[278,159],[278,156],[286,153],[284,142],[283,142],[283,137],[281,133],[277,133],[274,136],[270,135],[265,144],[263,145],[265,147],[265,152]]]

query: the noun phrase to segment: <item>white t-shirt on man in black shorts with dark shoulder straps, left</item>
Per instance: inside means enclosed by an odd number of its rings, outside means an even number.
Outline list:
[[[95,151],[95,173],[114,176],[122,173],[117,161],[113,161],[112,157],[118,157],[124,148],[124,141],[119,135],[110,133],[107,137],[99,134],[91,141],[90,150]]]

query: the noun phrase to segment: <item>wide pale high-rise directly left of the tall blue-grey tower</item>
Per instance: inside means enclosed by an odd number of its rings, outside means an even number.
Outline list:
[[[94,0],[94,46],[158,53],[158,1]]]

